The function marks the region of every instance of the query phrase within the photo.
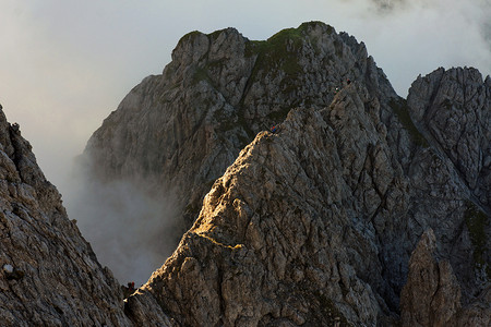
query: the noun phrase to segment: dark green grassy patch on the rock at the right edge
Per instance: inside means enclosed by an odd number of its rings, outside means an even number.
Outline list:
[[[470,241],[474,245],[474,262],[476,268],[486,267],[488,278],[491,279],[491,267],[486,262],[487,241],[486,228],[489,226],[489,218],[470,201],[466,202],[466,211],[464,214],[467,229],[469,230]]]

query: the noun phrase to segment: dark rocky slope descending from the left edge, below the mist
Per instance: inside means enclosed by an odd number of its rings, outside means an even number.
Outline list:
[[[1,110],[0,208],[1,326],[131,326],[118,282]]]

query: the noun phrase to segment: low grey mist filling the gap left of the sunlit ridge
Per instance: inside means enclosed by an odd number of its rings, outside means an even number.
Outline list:
[[[143,182],[101,182],[75,164],[69,190],[69,217],[121,284],[146,282],[182,235],[171,194],[151,194]]]

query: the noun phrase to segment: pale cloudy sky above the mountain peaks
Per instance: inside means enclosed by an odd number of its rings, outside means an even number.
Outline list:
[[[188,32],[231,26],[266,39],[322,21],[364,41],[405,97],[418,74],[439,66],[490,73],[490,0],[0,0],[0,104],[63,193],[91,134],[133,86],[161,73]]]

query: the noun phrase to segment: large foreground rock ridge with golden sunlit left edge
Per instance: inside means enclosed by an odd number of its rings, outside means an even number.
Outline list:
[[[489,230],[479,243],[472,227],[489,218],[452,160],[397,124],[408,108],[393,104],[386,125],[374,104],[355,82],[330,107],[294,109],[278,133],[259,133],[129,312],[155,299],[191,326],[374,326],[398,314],[404,326],[486,326]],[[428,229],[430,253],[409,261]]]

